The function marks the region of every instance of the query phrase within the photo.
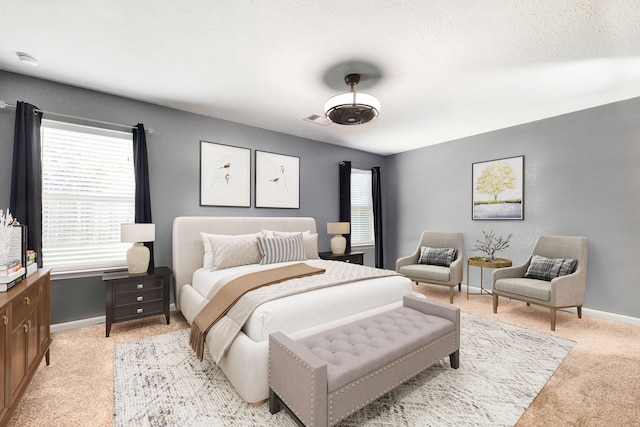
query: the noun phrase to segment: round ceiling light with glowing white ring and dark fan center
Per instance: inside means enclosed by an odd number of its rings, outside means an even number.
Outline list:
[[[331,97],[324,104],[327,118],[339,125],[362,125],[378,117],[380,101],[366,93],[356,93],[360,74],[347,74],[344,81],[351,90]]]

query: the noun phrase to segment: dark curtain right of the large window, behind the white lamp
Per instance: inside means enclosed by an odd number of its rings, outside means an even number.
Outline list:
[[[136,178],[136,221],[139,223],[152,223],[151,220],[151,194],[149,192],[149,162],[147,160],[147,138],[144,133],[144,125],[138,123],[133,129],[133,168]],[[145,242],[149,248],[149,268],[152,273],[155,267],[153,257],[153,242]]]

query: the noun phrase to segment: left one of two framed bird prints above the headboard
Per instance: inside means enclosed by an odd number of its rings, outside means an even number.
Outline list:
[[[251,206],[251,150],[200,141],[200,206]]]

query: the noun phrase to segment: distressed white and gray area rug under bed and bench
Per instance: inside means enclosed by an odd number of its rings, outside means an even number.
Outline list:
[[[461,313],[460,368],[445,358],[339,426],[513,426],[575,342]],[[114,426],[295,426],[249,406],[189,330],[119,344]]]

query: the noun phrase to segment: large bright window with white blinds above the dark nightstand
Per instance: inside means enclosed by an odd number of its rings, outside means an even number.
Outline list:
[[[42,121],[42,262],[55,272],[124,266],[134,222],[131,133]]]

